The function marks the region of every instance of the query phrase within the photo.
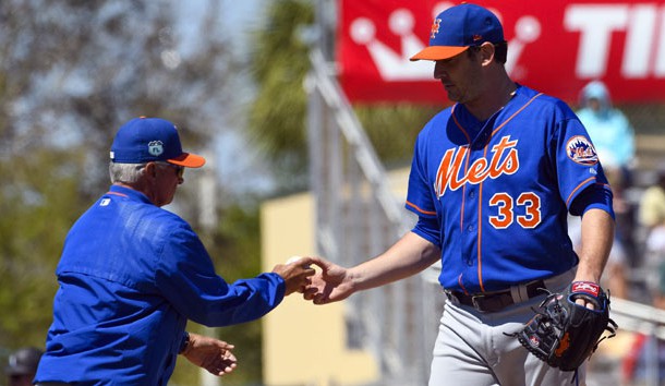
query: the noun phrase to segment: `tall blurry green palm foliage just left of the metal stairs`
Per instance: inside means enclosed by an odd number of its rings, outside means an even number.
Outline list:
[[[314,12],[310,1],[278,0],[267,13],[267,24],[252,45],[258,91],[249,117],[250,135],[270,159],[278,190],[302,190],[307,172],[302,84],[310,61],[300,34],[313,24]]]

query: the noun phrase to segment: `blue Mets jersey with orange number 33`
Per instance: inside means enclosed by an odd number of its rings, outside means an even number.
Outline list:
[[[579,119],[564,101],[518,86],[484,122],[456,104],[425,125],[407,208],[432,228],[414,232],[442,249],[440,285],[486,292],[578,263],[567,214],[590,186],[609,191]]]

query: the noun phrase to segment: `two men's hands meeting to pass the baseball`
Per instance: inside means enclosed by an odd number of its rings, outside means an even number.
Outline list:
[[[321,269],[314,269],[312,265]],[[292,256],[285,264],[277,264],[273,273],[285,279],[285,295],[299,292],[305,300],[312,300],[315,304],[339,301],[352,293],[350,286],[343,286],[347,269],[323,257]]]

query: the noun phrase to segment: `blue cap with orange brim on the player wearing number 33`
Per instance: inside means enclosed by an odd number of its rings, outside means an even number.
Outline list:
[[[496,15],[475,4],[455,5],[434,19],[430,46],[411,57],[411,61],[452,58],[485,41],[504,41],[504,27]]]

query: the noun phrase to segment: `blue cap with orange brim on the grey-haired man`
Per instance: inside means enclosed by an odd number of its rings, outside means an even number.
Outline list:
[[[123,124],[111,145],[111,161],[145,164],[166,161],[188,168],[201,168],[202,156],[184,153],[176,125],[160,118],[134,118]]]

